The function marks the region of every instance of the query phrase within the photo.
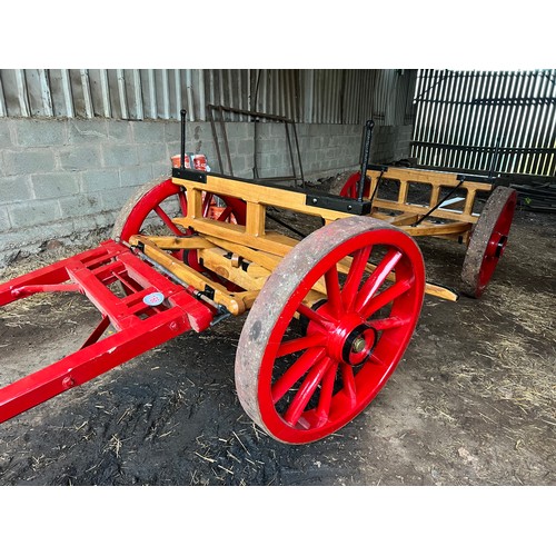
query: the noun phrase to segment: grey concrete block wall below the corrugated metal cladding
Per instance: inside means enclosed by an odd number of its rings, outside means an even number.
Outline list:
[[[254,177],[255,146],[261,178],[292,173],[284,125],[227,123],[226,130],[235,176]],[[296,131],[306,181],[360,163],[363,126],[300,123]],[[375,128],[371,161],[408,157],[410,132],[410,126]],[[186,137],[188,152],[205,153],[212,171],[229,173],[226,161],[219,168],[210,123],[188,122]],[[179,122],[0,118],[0,267],[52,239],[108,237],[135,188],[169,173],[179,150]]]

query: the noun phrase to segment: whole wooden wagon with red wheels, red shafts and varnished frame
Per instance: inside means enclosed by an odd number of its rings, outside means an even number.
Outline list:
[[[181,334],[248,312],[235,370],[244,409],[277,440],[318,440],[384,387],[410,341],[424,295],[457,299],[426,282],[411,236],[470,238],[471,246],[479,230],[475,294],[506,246],[513,211],[504,196],[495,197],[481,226],[465,208],[456,217],[440,207],[436,189],[420,208],[407,202],[404,185],[394,206],[380,200],[381,176],[399,175],[383,168],[376,177],[367,163],[370,125],[361,171],[335,196],[186,168],[185,111],[181,123],[179,167],[137,191],[112,239],[0,286],[0,306],[73,291],[100,312],[79,350],[0,389],[0,423]],[[445,185],[446,177],[438,180]],[[471,195],[485,189],[466,186]],[[268,207],[319,217],[322,226],[294,239],[268,229]],[[429,222],[434,212],[443,225]]]

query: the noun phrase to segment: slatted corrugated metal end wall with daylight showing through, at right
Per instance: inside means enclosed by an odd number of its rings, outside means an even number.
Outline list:
[[[420,165],[556,175],[556,70],[419,70]]]

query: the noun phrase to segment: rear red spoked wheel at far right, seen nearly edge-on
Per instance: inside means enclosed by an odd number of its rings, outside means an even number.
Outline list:
[[[483,295],[506,249],[517,205],[517,192],[497,187],[488,198],[475,225],[461,267],[463,292]]]

